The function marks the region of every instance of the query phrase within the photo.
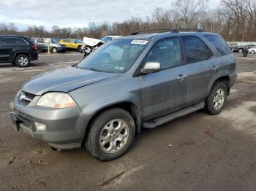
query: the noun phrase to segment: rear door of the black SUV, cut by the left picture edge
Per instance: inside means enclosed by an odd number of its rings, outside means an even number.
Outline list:
[[[12,39],[0,37],[0,62],[10,62],[12,56]]]

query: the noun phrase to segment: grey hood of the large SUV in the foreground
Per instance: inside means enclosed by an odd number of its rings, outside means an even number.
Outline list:
[[[34,95],[42,95],[51,91],[69,92],[117,75],[69,67],[33,77],[23,85],[22,90]]]

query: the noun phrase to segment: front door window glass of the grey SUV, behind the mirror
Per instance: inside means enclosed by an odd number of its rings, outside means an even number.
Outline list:
[[[169,69],[181,64],[181,48],[178,38],[163,39],[154,44],[144,62],[158,62],[161,69]]]

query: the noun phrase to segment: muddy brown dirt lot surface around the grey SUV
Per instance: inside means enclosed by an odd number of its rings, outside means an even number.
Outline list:
[[[0,116],[0,190],[256,190],[256,55],[236,57],[238,81],[222,114],[200,111],[143,129],[110,162],[85,149],[54,152]],[[81,59],[41,54],[28,69],[1,64],[0,114],[30,77]]]

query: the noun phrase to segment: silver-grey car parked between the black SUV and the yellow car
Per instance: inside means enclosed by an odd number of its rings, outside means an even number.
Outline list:
[[[51,38],[33,38],[34,42],[37,44],[37,49],[42,51],[48,51],[48,46],[50,52],[65,52],[66,46],[56,41],[56,39]]]

